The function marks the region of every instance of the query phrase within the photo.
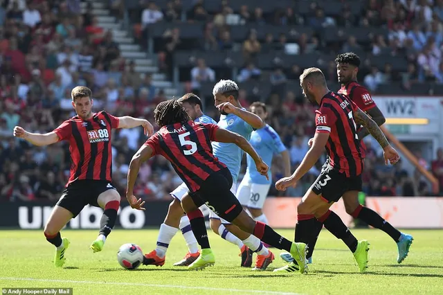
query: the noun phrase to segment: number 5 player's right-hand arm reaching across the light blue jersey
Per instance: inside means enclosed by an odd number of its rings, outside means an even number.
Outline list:
[[[251,113],[252,114],[252,113]],[[254,115],[255,116],[255,115]],[[260,119],[262,120],[262,119]],[[214,125],[217,126],[217,125]],[[247,152],[251,158],[255,162],[255,166],[257,167],[257,171],[260,172],[261,175],[266,176],[268,179],[268,170],[269,167],[264,163],[262,158],[257,154],[257,152],[252,147],[251,143],[246,141],[246,138],[240,136],[237,133],[230,132],[226,129],[217,128],[215,129],[215,134],[213,136],[213,141],[218,141],[219,143],[235,143],[239,148]]]

